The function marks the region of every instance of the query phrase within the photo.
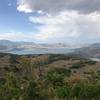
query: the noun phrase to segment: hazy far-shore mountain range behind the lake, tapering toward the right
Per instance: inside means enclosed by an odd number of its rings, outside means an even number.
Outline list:
[[[22,50],[22,49],[34,49],[34,48],[80,48],[83,45],[69,45],[64,43],[56,44],[43,44],[34,42],[14,42],[9,40],[0,40],[0,51],[12,51],[12,50]]]

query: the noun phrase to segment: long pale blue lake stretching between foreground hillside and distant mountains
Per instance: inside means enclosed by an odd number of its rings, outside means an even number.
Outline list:
[[[39,49],[25,49],[25,50],[14,50],[8,53],[12,53],[12,54],[18,54],[18,55],[24,55],[24,54],[68,54],[73,52],[73,49],[69,49],[69,48],[48,48],[48,49],[44,49],[44,48],[39,48]]]

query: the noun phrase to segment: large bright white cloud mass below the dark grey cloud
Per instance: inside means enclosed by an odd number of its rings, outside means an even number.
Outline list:
[[[91,38],[100,37],[100,13],[79,14],[76,11],[64,11],[51,16],[29,17],[37,27],[37,39],[47,41],[54,39],[78,38],[81,35]]]

